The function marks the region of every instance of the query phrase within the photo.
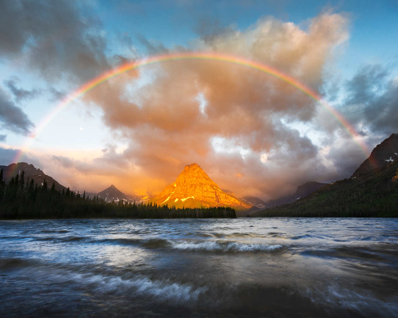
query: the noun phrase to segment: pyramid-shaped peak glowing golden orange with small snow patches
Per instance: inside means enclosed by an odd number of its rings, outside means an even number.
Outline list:
[[[192,163],[186,165],[177,180],[151,201],[176,207],[230,206],[238,210],[252,207],[230,193],[222,191],[199,165]]]

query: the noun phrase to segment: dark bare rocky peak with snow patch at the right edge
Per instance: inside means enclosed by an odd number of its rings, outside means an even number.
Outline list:
[[[378,144],[372,151],[368,159],[366,159],[351,178],[371,171],[375,168],[381,168],[388,163],[398,160],[398,134],[392,134],[382,143]]]

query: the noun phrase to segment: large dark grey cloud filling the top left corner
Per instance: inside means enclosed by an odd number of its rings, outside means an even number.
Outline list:
[[[88,80],[108,69],[101,23],[89,2],[3,0],[0,57],[23,54],[25,65],[47,80]]]

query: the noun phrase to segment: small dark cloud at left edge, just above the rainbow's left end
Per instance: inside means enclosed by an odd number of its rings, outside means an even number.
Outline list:
[[[0,87],[0,122],[1,128],[10,130],[16,134],[28,135],[33,122],[22,109],[14,104]]]

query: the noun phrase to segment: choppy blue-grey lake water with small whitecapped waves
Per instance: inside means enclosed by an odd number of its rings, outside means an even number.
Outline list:
[[[396,219],[0,221],[2,317],[396,317]]]

